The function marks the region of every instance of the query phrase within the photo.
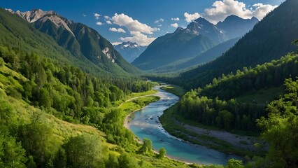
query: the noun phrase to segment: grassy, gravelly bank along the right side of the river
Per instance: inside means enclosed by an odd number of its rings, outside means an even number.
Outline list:
[[[192,144],[214,148],[225,153],[234,153],[241,156],[260,154],[255,148],[256,143],[262,143],[257,137],[241,136],[221,130],[210,130],[195,127],[178,120],[174,113],[176,106],[164,111],[159,118],[164,129],[175,137]]]

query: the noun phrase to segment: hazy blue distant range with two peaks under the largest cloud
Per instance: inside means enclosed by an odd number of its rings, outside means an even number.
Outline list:
[[[159,71],[158,69],[161,67],[180,64],[185,62],[183,60],[201,55],[220,43],[243,36],[253,29],[257,22],[256,18],[245,20],[231,15],[223,22],[219,22],[218,25],[213,25],[204,18],[198,18],[185,29],[178,27],[172,34],[155,39],[132,64],[146,71]],[[226,50],[234,45],[234,43],[229,44],[228,48],[225,48]],[[221,52],[226,50],[221,50]],[[214,55],[211,57],[216,58]],[[211,61],[212,59],[206,60]],[[199,64],[201,61],[196,63]],[[166,71],[165,68],[162,69],[162,71]]]

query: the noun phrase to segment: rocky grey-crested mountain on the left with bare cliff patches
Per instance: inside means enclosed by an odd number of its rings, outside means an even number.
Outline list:
[[[10,12],[14,13],[10,10]],[[122,58],[113,45],[94,29],[68,20],[54,11],[34,9],[15,12],[39,31],[52,36],[55,41],[76,57],[86,57],[106,71],[117,73],[123,69],[127,73],[139,70]]]

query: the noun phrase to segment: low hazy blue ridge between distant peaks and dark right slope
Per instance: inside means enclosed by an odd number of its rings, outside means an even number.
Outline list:
[[[197,55],[196,57],[193,57],[192,59],[187,59],[183,62],[174,62],[173,64],[169,64],[167,66],[162,66],[159,69],[155,69],[157,72],[164,72],[164,71],[177,71],[180,69],[186,69],[191,66],[205,64],[207,62],[211,62],[212,60],[216,59],[217,57],[220,57],[223,53],[225,53],[229,48],[232,48],[237,41],[239,41],[240,38],[234,38],[228,41],[225,41],[224,43],[220,43],[216,45],[215,47],[207,50],[206,52],[201,53],[200,55]]]

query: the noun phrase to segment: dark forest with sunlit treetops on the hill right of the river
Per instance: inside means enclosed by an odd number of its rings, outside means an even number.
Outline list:
[[[294,53],[255,68],[244,67],[235,75],[223,74],[206,87],[187,92],[180,99],[177,111],[183,118],[225,130],[257,131],[255,120],[267,116],[267,104],[238,102],[235,98],[263,88],[280,87],[285,78],[295,79],[297,73],[298,55]],[[268,103],[274,99],[278,97],[271,97]]]

